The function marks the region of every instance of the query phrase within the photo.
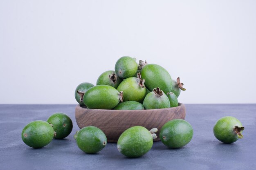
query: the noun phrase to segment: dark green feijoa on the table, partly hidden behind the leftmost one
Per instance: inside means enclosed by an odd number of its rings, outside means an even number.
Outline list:
[[[53,125],[54,132],[56,132],[55,139],[64,139],[72,132],[72,120],[65,113],[54,113],[47,119],[47,122]]]

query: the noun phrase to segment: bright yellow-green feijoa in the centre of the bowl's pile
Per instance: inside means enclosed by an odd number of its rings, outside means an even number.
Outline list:
[[[122,91],[124,95],[124,102],[136,101],[142,102],[146,95],[146,87],[142,88],[139,84],[139,79],[129,77],[119,84],[117,91]]]

